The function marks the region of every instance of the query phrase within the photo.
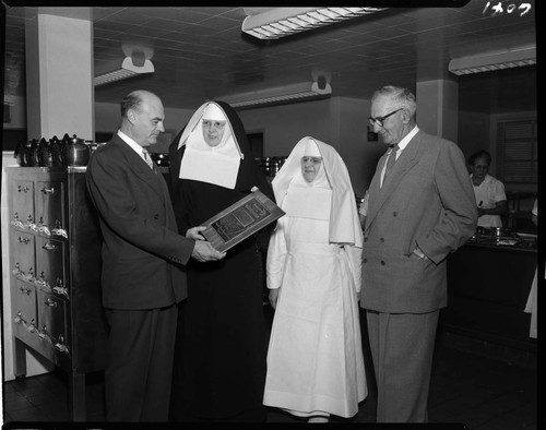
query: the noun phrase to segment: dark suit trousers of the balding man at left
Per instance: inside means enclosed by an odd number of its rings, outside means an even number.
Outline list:
[[[106,310],[110,325],[105,370],[107,421],[166,421],[177,308]]]

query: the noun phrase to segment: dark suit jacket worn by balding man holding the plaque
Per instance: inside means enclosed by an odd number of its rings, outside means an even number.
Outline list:
[[[186,298],[181,264],[194,241],[177,234],[163,176],[115,134],[92,155],[86,180],[104,238],[103,304],[143,310]]]

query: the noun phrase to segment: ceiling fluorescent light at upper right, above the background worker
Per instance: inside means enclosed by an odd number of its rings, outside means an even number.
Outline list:
[[[536,47],[455,58],[449,62],[449,71],[461,75],[532,64],[536,64]]]

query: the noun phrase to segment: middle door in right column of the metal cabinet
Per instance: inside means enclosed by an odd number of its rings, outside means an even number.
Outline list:
[[[38,285],[48,290],[68,287],[66,247],[67,242],[63,240],[36,237],[36,279]]]

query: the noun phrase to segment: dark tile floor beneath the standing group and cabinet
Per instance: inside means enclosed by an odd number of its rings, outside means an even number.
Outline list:
[[[509,362],[499,359],[499,355],[479,354],[476,353],[479,348],[464,348],[463,345],[470,344],[449,333],[438,338],[429,398],[430,422],[442,423],[441,428],[446,423],[459,423],[455,428],[477,430],[542,428],[546,421],[544,411],[537,414],[536,355],[526,354],[526,359]],[[88,374],[86,385],[87,421],[98,423],[105,416],[102,372]],[[47,423],[69,419],[63,372],[54,371],[22,382],[10,381],[3,384],[3,390],[7,428],[27,428],[31,421]],[[356,417],[349,420],[332,418],[331,421],[359,423],[360,427],[372,423],[375,406],[370,389]],[[268,422],[302,421],[271,408]]]

